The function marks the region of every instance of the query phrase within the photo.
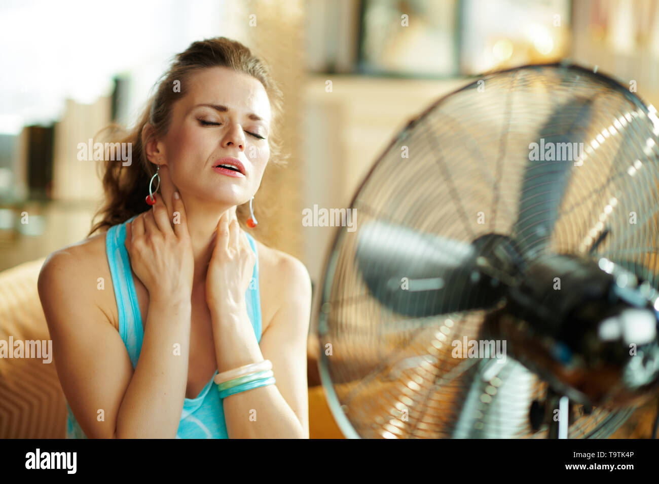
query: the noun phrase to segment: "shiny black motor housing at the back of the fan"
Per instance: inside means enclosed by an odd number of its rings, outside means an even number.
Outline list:
[[[485,331],[506,338],[515,358],[573,400],[638,403],[659,387],[658,313],[652,298],[638,297],[633,275],[600,265],[578,255],[538,257]]]

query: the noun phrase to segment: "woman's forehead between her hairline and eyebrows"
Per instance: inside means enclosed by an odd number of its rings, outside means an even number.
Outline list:
[[[194,72],[182,105],[185,111],[202,104],[219,104],[239,114],[254,113],[270,122],[270,100],[261,82],[227,67],[209,67]]]

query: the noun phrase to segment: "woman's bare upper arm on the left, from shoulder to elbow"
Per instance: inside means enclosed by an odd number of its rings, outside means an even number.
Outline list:
[[[119,333],[94,302],[96,275],[84,277],[79,261],[66,250],[49,255],[39,296],[71,410],[87,437],[112,438],[132,365]]]

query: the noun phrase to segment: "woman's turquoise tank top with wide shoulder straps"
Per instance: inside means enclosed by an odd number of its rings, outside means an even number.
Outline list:
[[[136,217],[136,216],[135,216]],[[135,285],[130,272],[130,261],[128,251],[124,246],[126,239],[126,224],[135,217],[131,217],[124,223],[115,225],[107,230],[105,236],[105,250],[107,252],[107,261],[110,265],[112,275],[112,284],[115,289],[115,298],[117,299],[117,309],[119,310],[119,335],[126,345],[130,362],[133,369],[140,358],[142,349],[142,338],[144,331],[142,329],[142,315],[137,301]],[[246,233],[246,232],[245,232]],[[256,241],[247,234],[250,246],[256,254],[256,263],[254,263],[254,273],[252,274],[252,284],[245,293],[247,314],[254,327],[256,340],[261,342],[261,303],[258,288],[258,252],[256,251]],[[224,421],[224,408],[222,400],[219,398],[219,391],[215,385],[214,378],[217,370],[206,387],[196,396],[196,398],[185,398],[183,403],[183,412],[181,412],[181,421],[176,433],[177,439],[228,439],[227,425]],[[67,439],[86,439],[80,425],[76,421],[71,407],[67,402]]]

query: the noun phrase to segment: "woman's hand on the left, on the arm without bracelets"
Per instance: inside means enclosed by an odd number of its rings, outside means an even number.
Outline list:
[[[194,257],[181,197],[172,196],[173,217],[156,197],[152,210],[126,225],[125,246],[132,270],[149,291],[150,300],[171,300],[192,295]],[[173,225],[173,229],[172,229]]]

